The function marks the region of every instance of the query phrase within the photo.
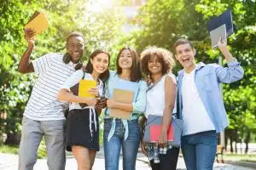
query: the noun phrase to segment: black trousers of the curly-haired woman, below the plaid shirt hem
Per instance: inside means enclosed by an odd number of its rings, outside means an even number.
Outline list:
[[[154,160],[150,161],[152,170],[176,170],[178,153],[179,148],[172,148],[167,150],[166,155],[160,154],[160,163],[154,163]]]

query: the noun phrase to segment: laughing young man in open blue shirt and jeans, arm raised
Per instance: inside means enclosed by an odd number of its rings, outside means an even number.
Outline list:
[[[187,39],[178,39],[174,48],[176,59],[183,65],[177,75],[177,88],[179,116],[183,119],[184,161],[188,170],[210,170],[216,155],[217,133],[229,126],[218,85],[240,80],[243,70],[222,40],[218,48],[228,67],[196,64],[195,48]]]

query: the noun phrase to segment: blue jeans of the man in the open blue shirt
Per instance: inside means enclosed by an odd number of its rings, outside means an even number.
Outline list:
[[[187,170],[212,170],[217,143],[215,131],[183,136],[182,151]]]

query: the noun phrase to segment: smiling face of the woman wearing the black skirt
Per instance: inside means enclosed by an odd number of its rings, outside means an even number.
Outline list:
[[[93,67],[93,70],[99,74],[102,74],[104,71],[108,69],[108,54],[100,53],[96,54],[93,59],[90,59],[90,63]]]

